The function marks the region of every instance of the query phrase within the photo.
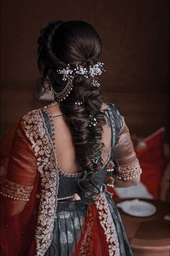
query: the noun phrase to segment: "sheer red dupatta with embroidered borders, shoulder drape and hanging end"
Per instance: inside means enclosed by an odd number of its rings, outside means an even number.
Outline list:
[[[41,110],[33,110],[22,118],[12,144],[6,180],[22,187],[32,186],[24,210],[14,216],[4,211],[10,203],[12,191],[2,185],[1,251],[5,256],[44,255],[53,236],[54,215],[57,207],[58,172],[53,143],[45,128]],[[12,183],[12,184],[13,184]],[[4,184],[4,183],[3,183]],[[18,191],[14,191],[18,193]],[[16,196],[21,196],[16,195]],[[118,241],[107,200],[101,193],[99,200],[89,206],[79,244],[73,256],[117,255]],[[3,255],[3,254],[2,254]]]

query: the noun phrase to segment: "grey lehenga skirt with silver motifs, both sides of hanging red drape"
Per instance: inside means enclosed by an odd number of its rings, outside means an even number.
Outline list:
[[[115,222],[120,243],[121,256],[133,256],[122,225],[120,213],[109,194],[106,193],[112,219]],[[81,226],[86,218],[87,206],[81,200],[58,202],[53,229],[53,240],[45,256],[71,256],[81,234]],[[86,255],[84,255],[86,256]],[[96,256],[96,255],[95,255]]]

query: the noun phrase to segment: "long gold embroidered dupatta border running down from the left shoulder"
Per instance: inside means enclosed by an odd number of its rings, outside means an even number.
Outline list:
[[[58,172],[53,144],[45,129],[41,110],[33,110],[23,118],[24,131],[37,156],[41,177],[40,208],[35,231],[36,256],[42,256],[51,244],[57,206]]]

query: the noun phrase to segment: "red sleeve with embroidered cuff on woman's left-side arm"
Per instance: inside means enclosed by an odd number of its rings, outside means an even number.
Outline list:
[[[12,200],[29,200],[36,169],[36,158],[21,121],[12,141],[6,179],[1,184],[1,195]]]

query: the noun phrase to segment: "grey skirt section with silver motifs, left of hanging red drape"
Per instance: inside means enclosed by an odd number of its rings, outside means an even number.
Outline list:
[[[58,202],[53,240],[45,256],[68,256],[75,250],[86,218],[87,206],[81,200]]]

